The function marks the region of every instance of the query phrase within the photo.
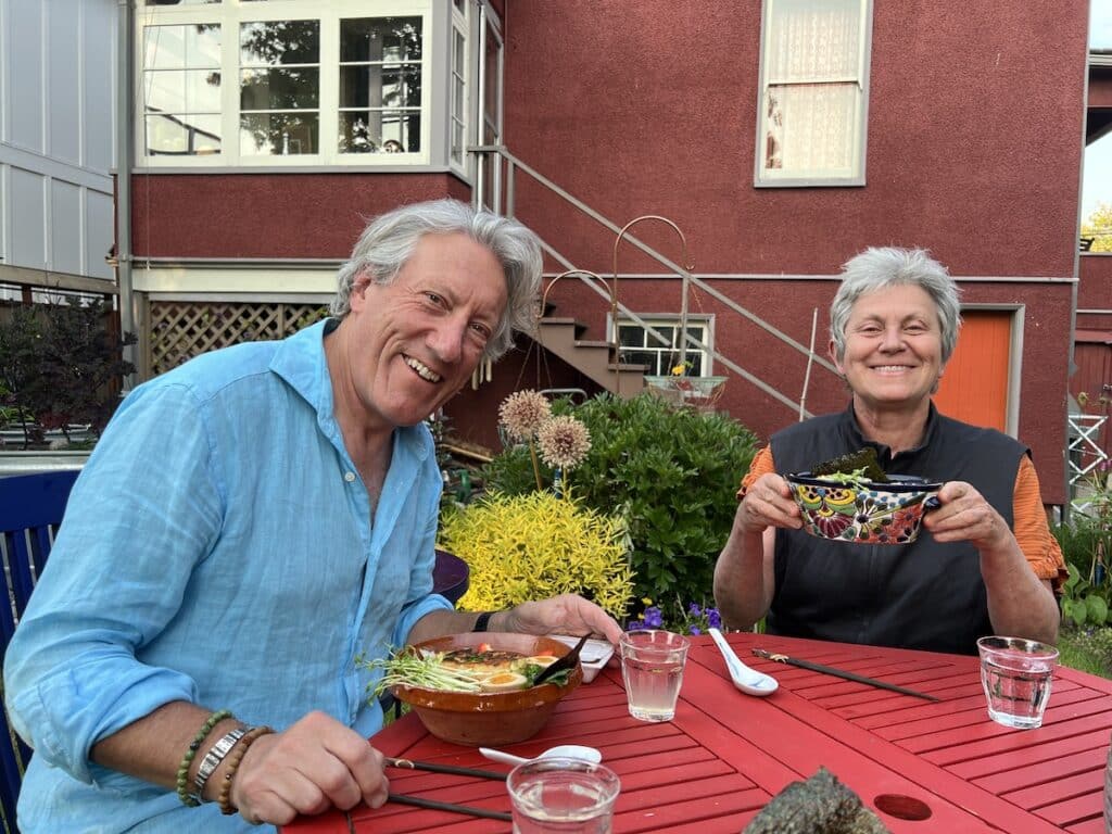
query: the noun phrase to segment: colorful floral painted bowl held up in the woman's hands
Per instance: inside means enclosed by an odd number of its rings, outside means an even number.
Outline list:
[[[787,476],[812,536],[861,545],[906,545],[915,540],[923,514],[939,506],[941,483],[890,475],[890,484],[842,484],[810,473]]]

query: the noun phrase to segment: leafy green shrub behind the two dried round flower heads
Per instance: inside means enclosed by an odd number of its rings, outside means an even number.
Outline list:
[[[636,596],[709,599],[737,486],[756,449],[753,433],[651,394],[604,394],[578,406],[560,400],[553,411],[575,415],[590,431],[590,451],[567,480],[586,506],[625,519]],[[507,494],[535,489],[528,449],[500,454],[484,480]]]

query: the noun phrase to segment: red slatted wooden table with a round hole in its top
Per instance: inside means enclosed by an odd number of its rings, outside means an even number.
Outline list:
[[[711,639],[695,637],[674,721],[632,718],[620,669],[607,668],[565,698],[538,736],[507,749],[530,756],[560,743],[598,747],[622,780],[616,834],[736,834],[772,796],[821,766],[897,834],[1104,834],[1112,681],[1060,667],[1043,726],[1011,729],[989,718],[975,657],[749,633],[727,639],[743,659],[780,681],[777,692],[765,698],[738,692]],[[940,701],[758,659],[754,647]],[[474,748],[430,736],[415,715],[371,743],[391,756],[508,770]],[[394,793],[509,810],[503,782],[394,768],[388,775]],[[924,813],[926,818],[904,818]],[[506,822],[393,803],[302,817],[282,828],[286,834],[509,830]]]

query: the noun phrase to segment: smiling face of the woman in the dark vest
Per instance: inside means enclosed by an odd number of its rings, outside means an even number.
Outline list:
[[[856,404],[872,410],[925,410],[943,370],[934,301],[914,285],[863,295],[846,322],[845,355],[832,358]]]

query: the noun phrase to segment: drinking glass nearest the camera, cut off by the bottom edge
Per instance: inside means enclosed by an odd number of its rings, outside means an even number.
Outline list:
[[[605,765],[544,757],[510,771],[506,787],[514,834],[610,834],[622,784]]]

